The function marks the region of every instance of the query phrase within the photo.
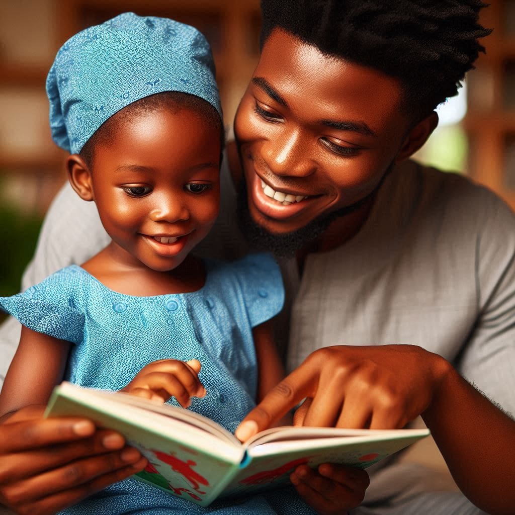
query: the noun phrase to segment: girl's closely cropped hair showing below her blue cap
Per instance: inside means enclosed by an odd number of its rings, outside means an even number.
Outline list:
[[[216,109],[207,100],[180,91],[164,91],[136,100],[113,114],[93,133],[91,138],[82,147],[79,155],[91,170],[93,167],[95,147],[99,143],[104,143],[113,138],[119,124],[127,123],[142,113],[160,109],[171,110],[173,113],[178,113],[182,109],[190,109],[197,112],[205,120],[206,124],[220,131],[220,151],[224,149],[224,124]],[[187,137],[187,135],[185,135],[185,137]]]

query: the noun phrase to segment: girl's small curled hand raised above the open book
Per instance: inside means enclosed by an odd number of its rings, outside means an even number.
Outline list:
[[[188,362],[161,359],[142,368],[120,391],[160,404],[175,397],[182,407],[187,408],[191,404],[191,397],[204,397],[206,393],[198,379],[200,367],[197,359]]]

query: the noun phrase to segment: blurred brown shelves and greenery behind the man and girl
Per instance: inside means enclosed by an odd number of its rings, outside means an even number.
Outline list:
[[[19,290],[41,220],[65,181],[65,153],[48,127],[46,74],[74,33],[124,11],[167,16],[204,33],[232,125],[258,60],[259,0],[2,0],[0,296]],[[482,23],[494,29],[483,41],[487,55],[460,94],[440,106],[440,125],[416,159],[466,174],[515,208],[515,0],[490,0]]]

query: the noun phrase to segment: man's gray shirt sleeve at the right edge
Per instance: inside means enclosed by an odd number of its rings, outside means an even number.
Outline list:
[[[489,197],[476,243],[478,318],[457,368],[515,415],[515,216]]]

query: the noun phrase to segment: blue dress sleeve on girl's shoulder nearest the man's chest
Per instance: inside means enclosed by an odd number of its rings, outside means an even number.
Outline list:
[[[283,308],[281,269],[270,254],[250,254],[236,262],[236,273],[252,327],[276,316]]]

